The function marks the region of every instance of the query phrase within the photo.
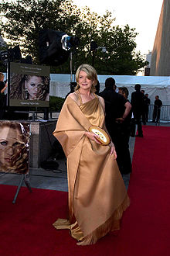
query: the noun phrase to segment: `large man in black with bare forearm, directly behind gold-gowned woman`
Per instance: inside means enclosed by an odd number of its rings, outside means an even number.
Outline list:
[[[131,157],[124,133],[124,123],[131,111],[131,103],[115,92],[114,85],[114,78],[107,78],[104,91],[99,95],[104,98],[106,127],[117,151],[117,164],[123,175],[131,172]]]

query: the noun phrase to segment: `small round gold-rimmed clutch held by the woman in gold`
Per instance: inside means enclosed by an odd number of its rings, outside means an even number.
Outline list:
[[[107,146],[108,144],[110,144],[110,137],[108,136],[108,134],[101,129],[98,126],[90,126],[89,131],[91,133],[97,134],[99,137],[97,137],[96,139],[104,146]]]

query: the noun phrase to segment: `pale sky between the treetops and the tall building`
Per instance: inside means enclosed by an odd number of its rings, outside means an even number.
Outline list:
[[[106,10],[113,13],[114,25],[135,28],[138,36],[135,42],[141,54],[148,54],[153,49],[158,20],[163,0],[73,0],[77,7],[87,5],[91,11],[99,15]]]

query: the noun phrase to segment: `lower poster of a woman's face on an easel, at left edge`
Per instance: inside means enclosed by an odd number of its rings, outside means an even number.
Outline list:
[[[0,171],[29,172],[29,123],[0,121]]]

